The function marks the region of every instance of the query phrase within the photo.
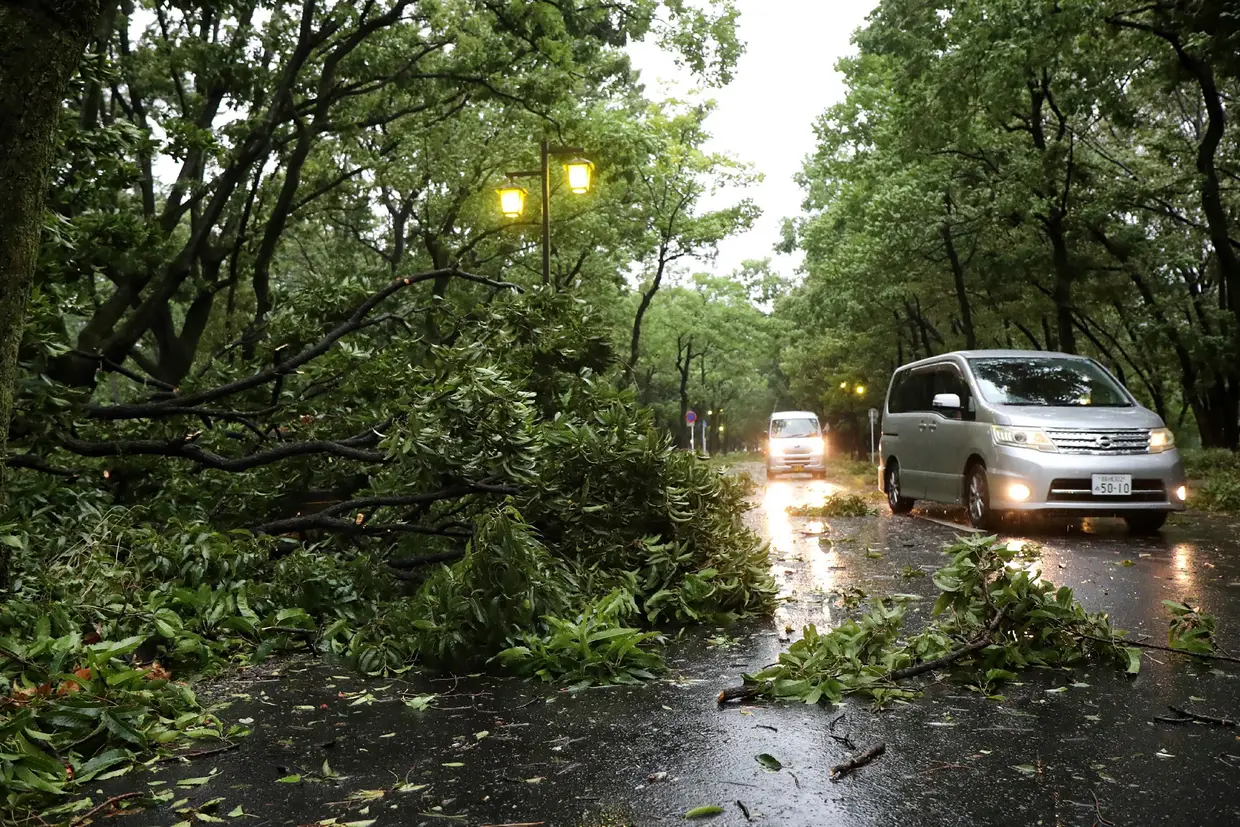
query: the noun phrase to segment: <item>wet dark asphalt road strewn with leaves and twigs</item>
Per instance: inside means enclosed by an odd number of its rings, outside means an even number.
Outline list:
[[[1240,668],[1229,665],[1154,652],[1136,678],[1110,667],[1027,673],[1002,702],[941,682],[879,713],[858,701],[718,709],[722,687],[777,657],[785,625],[795,640],[805,624],[838,622],[841,589],[932,593],[930,578],[901,572],[932,572],[962,528],[885,508],[827,522],[787,516],[787,506],[832,490],[808,480],[766,486],[749,518],[771,541],[786,603],[774,621],[684,635],[668,653],[667,679],[568,693],[489,677],[374,682],[284,663],[263,679],[215,687],[224,718],[253,719],[238,749],[118,779],[103,792],[150,782],[174,791],[164,806],[124,818],[134,826],[201,823],[195,808],[217,798],[206,821],[247,827],[645,826],[682,822],[703,805],[723,807],[709,825],[1240,825],[1240,730],[1152,722],[1167,704],[1240,715]],[[1014,527],[1011,537],[1042,543],[1044,575],[1118,627],[1164,642],[1159,601],[1193,596],[1236,652],[1238,528],[1188,515],[1153,538],[1110,521],[1074,533]],[[438,694],[429,708],[402,703],[424,692]],[[849,745],[879,740],[882,759],[828,780]],[[763,753],[785,769],[766,770],[755,760]],[[301,781],[279,781],[291,775]],[[237,806],[249,817],[229,818]]]

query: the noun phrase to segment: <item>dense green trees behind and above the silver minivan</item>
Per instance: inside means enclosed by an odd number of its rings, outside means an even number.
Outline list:
[[[879,2],[787,228],[800,403],[858,418],[903,362],[1063,350],[1235,449],[1238,42],[1207,0]]]

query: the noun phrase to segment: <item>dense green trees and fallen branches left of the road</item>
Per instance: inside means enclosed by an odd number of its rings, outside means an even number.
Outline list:
[[[770,608],[745,482],[632,389],[671,264],[755,210],[701,207],[751,174],[624,46],[720,83],[734,24],[722,0],[105,4],[15,389],[0,818],[239,734],[191,687],[229,665],[629,682],[662,629]],[[588,195],[552,166],[549,278],[537,208],[495,198],[543,138],[598,165]]]

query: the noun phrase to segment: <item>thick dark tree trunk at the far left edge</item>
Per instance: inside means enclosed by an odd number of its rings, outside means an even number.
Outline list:
[[[0,503],[56,125],[98,16],[99,0],[0,0]]]

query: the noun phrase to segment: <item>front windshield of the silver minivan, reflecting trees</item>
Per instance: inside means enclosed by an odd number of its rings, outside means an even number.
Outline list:
[[[1131,408],[1123,388],[1089,360],[1061,357],[971,358],[982,397],[1001,405]]]

